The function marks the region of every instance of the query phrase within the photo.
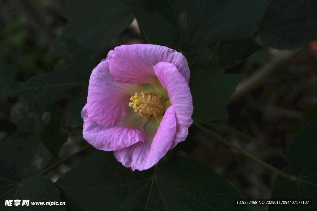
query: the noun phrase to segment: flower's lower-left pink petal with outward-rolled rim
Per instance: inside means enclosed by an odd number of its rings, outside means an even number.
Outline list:
[[[133,109],[131,110],[133,111]],[[139,115],[135,115],[138,118]],[[132,120],[130,124],[135,126],[126,126],[126,122],[129,122],[129,118],[133,119],[132,115],[126,115],[125,118],[123,118],[123,120],[120,121],[116,126],[104,127],[97,124],[95,121],[88,117],[87,105],[85,105],[81,111],[81,117],[84,120],[84,139],[87,140],[89,144],[91,144],[99,150],[120,150],[125,147],[131,146],[137,142],[146,141],[146,133],[143,130],[143,125],[145,124],[145,121],[142,122]],[[137,121],[139,125],[133,124],[135,123],[135,121]]]

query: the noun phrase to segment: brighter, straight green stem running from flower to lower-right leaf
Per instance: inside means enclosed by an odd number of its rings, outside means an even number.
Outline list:
[[[204,131],[204,132],[206,132],[206,133],[212,135],[214,138],[216,138],[216,139],[222,141],[224,144],[226,144],[226,145],[228,145],[228,146],[230,146],[230,147],[236,149],[236,150],[239,151],[241,154],[247,156],[248,158],[251,158],[253,161],[256,161],[257,163],[261,164],[262,166],[268,168],[269,170],[274,171],[275,173],[277,173],[277,174],[281,175],[282,177],[285,177],[285,178],[287,178],[287,179],[289,179],[289,180],[292,180],[292,181],[296,181],[296,180],[297,180],[297,177],[294,177],[294,176],[291,176],[291,175],[289,175],[289,174],[287,174],[287,173],[284,173],[283,171],[278,170],[278,169],[274,168],[273,166],[271,166],[271,165],[269,165],[269,164],[263,162],[262,160],[260,160],[260,159],[258,159],[258,158],[256,158],[256,157],[254,157],[253,155],[251,155],[251,154],[249,154],[248,152],[244,151],[244,150],[241,149],[240,147],[238,147],[238,146],[232,144],[230,141],[228,141],[228,140],[226,140],[225,138],[221,137],[221,136],[218,135],[217,133],[215,133],[215,132],[209,130],[207,127],[204,127],[204,126],[201,125],[200,123],[194,122],[193,124],[194,124],[196,127],[198,127],[199,129],[201,129],[202,131]]]

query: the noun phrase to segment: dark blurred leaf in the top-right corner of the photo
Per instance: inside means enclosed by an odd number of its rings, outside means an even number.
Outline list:
[[[272,1],[257,22],[262,41],[278,49],[291,49],[317,39],[317,2]]]

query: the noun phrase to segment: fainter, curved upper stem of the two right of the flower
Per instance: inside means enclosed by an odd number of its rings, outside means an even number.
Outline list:
[[[252,137],[252,136],[250,136],[250,135],[248,135],[246,133],[243,133],[243,132],[238,131],[238,130],[236,130],[234,128],[231,128],[231,127],[225,127],[225,126],[219,125],[219,124],[214,123],[214,122],[206,122],[206,121],[197,121],[197,122],[199,122],[201,124],[204,124],[204,125],[208,125],[210,127],[217,127],[219,129],[227,130],[227,131],[229,131],[231,133],[235,133],[237,135],[240,135],[240,136],[242,136],[242,137],[244,137],[244,138],[246,138],[248,140],[255,141],[256,143],[258,143],[258,144],[260,144],[260,145],[272,150],[273,152],[275,152],[276,155],[280,156],[284,160],[286,160],[286,161],[288,160],[288,158],[287,158],[287,156],[285,154],[279,152],[274,147],[262,142],[261,140],[255,139],[254,137]]]

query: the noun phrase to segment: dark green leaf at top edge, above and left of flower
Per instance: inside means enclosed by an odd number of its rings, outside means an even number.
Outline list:
[[[116,0],[67,1],[64,15],[68,22],[53,50],[67,53],[67,38],[73,38],[99,52],[133,21],[131,8]]]

